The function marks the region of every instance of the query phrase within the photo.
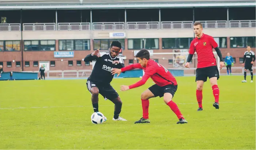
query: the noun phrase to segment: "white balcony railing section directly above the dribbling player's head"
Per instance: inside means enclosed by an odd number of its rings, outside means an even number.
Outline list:
[[[92,23],[93,30],[125,30],[124,22]]]

